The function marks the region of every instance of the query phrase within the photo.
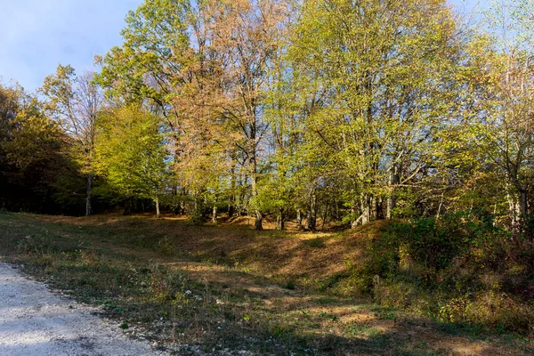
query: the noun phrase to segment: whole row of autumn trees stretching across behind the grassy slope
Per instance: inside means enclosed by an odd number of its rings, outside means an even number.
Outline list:
[[[1,88],[0,204],[529,235],[533,9],[507,3],[477,29],[441,0],[146,1],[96,73]]]

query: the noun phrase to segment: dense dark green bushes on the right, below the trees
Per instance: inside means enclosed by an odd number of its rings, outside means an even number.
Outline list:
[[[388,307],[534,333],[534,243],[495,228],[488,215],[393,222],[352,266],[352,280]]]

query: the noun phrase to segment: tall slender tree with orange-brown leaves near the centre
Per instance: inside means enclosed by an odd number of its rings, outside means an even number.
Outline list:
[[[264,117],[264,88],[271,60],[279,46],[280,28],[287,15],[284,1],[213,2],[218,53],[224,53],[223,77],[226,100],[220,103],[224,117],[237,134],[235,144],[242,154],[253,199],[261,179],[263,140],[268,124]],[[263,213],[253,206],[255,230],[262,230]]]

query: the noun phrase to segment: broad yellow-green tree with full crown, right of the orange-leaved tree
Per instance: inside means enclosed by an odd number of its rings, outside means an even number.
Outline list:
[[[306,127],[344,176],[353,226],[391,217],[397,191],[435,166],[435,134],[454,109],[457,36],[440,0],[304,2],[291,52],[325,93]]]

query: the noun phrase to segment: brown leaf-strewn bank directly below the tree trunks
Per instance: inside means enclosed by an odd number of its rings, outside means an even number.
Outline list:
[[[112,234],[144,240],[166,238],[174,254],[201,262],[241,267],[267,278],[317,284],[320,279],[348,271],[383,224],[375,223],[352,234],[303,231],[251,231],[247,216],[220,226],[191,226],[184,217],[99,215],[77,219],[39,216],[47,223],[77,223],[105,228]],[[350,263],[349,263],[350,262]]]

